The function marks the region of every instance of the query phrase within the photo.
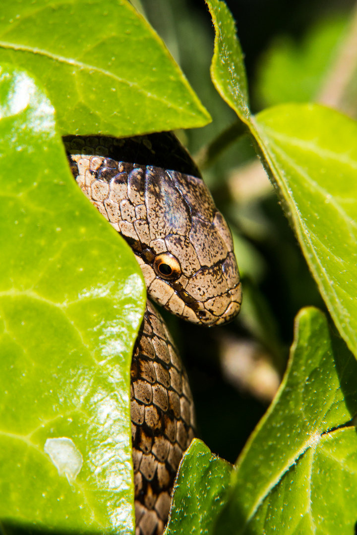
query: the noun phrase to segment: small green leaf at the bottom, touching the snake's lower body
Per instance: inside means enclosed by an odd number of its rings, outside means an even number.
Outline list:
[[[180,464],[164,535],[213,533],[214,521],[226,503],[231,472],[229,462],[194,439]]]

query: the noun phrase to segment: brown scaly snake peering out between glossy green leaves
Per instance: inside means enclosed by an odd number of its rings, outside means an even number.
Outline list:
[[[78,186],[132,247],[148,297],[199,325],[233,319],[241,282],[231,232],[177,137],[66,136],[64,143]],[[133,349],[131,421],[135,535],[160,535],[196,423],[185,368],[149,299]]]

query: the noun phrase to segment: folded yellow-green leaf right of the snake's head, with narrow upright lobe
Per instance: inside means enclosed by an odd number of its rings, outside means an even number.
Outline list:
[[[212,80],[259,145],[321,295],[357,357],[357,125],[313,104],[244,114],[245,91],[232,74],[241,65],[233,19],[223,2],[210,5],[216,18],[225,14],[216,27]]]

